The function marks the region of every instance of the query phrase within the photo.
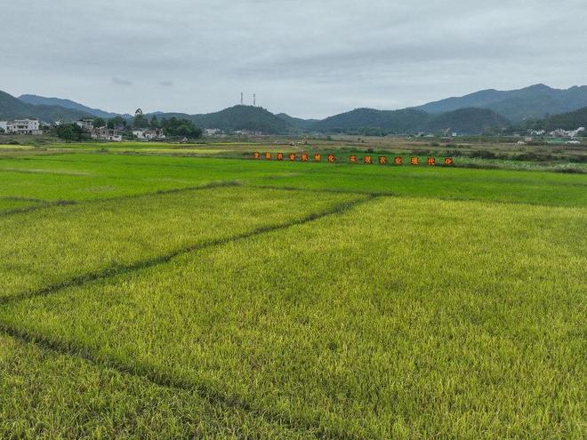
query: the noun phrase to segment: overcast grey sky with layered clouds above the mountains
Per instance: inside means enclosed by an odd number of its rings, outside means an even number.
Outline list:
[[[586,0],[0,0],[0,90],[117,112],[405,108],[587,84]]]

